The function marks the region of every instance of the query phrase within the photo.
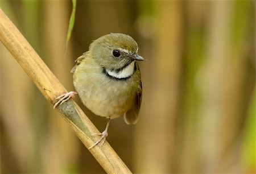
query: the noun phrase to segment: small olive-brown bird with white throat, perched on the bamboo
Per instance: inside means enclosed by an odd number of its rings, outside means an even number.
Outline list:
[[[76,92],[63,94],[57,105],[73,98],[75,94],[94,114],[108,118],[106,129],[94,136],[100,136],[92,148],[103,144],[108,136],[110,119],[124,116],[125,122],[138,121],[142,101],[142,82],[138,61],[144,60],[138,54],[138,45],[129,35],[112,33],[94,40],[89,51],[76,60],[73,84]]]

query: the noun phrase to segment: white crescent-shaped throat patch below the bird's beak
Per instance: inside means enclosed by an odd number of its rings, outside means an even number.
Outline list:
[[[131,75],[133,75],[133,73],[134,73],[134,65],[135,65],[135,61],[132,61],[127,67],[123,68],[119,72],[109,71],[109,70],[106,70],[106,72],[110,76],[113,76],[115,78],[126,78],[126,77],[130,77]]]

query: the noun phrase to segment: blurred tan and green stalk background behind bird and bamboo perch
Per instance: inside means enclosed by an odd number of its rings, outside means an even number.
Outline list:
[[[143,101],[108,142],[134,173],[255,173],[255,1],[5,1],[1,9],[69,91],[74,61],[110,32],[133,36]],[[0,43],[1,173],[105,173]],[[106,119],[80,102],[103,131]]]

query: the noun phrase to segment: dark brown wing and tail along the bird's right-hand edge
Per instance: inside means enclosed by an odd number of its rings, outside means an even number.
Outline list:
[[[141,90],[137,92],[135,96],[134,105],[125,113],[124,118],[127,125],[135,124],[138,122],[139,118],[139,109],[141,108],[141,101],[142,101],[142,83],[141,80],[139,81],[141,85]]]

